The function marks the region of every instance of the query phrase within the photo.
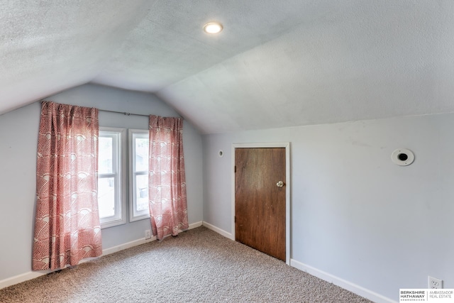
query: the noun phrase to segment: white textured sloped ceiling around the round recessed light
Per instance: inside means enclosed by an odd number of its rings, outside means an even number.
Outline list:
[[[454,1],[0,4],[0,114],[87,82],[202,133],[454,111]]]

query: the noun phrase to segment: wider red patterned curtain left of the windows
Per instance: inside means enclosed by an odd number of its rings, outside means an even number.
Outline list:
[[[97,200],[98,110],[43,102],[38,137],[33,270],[102,253]]]

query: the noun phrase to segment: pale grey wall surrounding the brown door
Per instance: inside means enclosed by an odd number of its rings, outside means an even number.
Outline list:
[[[232,143],[291,142],[293,261],[397,301],[428,275],[454,288],[453,130],[442,114],[205,135],[204,221],[233,232]]]

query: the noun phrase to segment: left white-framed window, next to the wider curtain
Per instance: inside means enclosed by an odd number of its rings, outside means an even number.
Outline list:
[[[126,223],[124,128],[99,128],[98,206],[101,228]]]

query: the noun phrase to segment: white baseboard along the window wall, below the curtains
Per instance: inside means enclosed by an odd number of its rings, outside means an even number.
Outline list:
[[[202,223],[203,223],[202,221],[199,221],[199,222],[196,222],[196,223],[193,223],[193,224],[189,224],[188,230],[192,229],[192,228],[197,228],[197,227],[201,226]],[[102,255],[110,255],[111,253],[116,253],[116,252],[118,252],[120,250],[123,250],[123,249],[126,249],[126,248],[131,248],[131,247],[138,246],[138,245],[141,245],[141,244],[145,244],[145,243],[148,243],[148,242],[151,242],[151,241],[155,241],[155,240],[156,240],[156,237],[153,236],[153,237],[151,237],[149,239],[141,238],[141,239],[138,239],[138,240],[135,240],[135,241],[131,241],[131,242],[128,242],[128,243],[123,243],[123,244],[118,245],[118,246],[114,246],[114,247],[103,249],[102,250]],[[92,260],[92,259],[93,258],[80,260],[80,263],[84,263],[84,262],[87,262],[87,261]],[[25,273],[23,273],[21,275],[16,275],[14,277],[9,277],[9,278],[4,279],[4,280],[0,280],[0,290],[2,288],[9,287],[11,285],[15,285],[15,284],[18,284],[18,283],[21,283],[21,282],[25,282],[25,281],[28,281],[28,280],[35,279],[36,277],[40,277],[42,275],[47,275],[50,272],[52,272],[52,270],[31,271],[31,272],[25,272]]]

